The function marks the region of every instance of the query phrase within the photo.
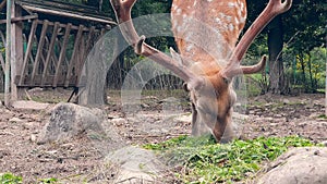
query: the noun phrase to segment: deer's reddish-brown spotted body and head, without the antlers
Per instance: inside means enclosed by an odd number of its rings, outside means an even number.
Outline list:
[[[230,82],[219,75],[223,64],[218,60],[226,60],[235,47],[245,23],[245,0],[173,1],[172,32],[179,51],[183,59],[193,62],[192,71],[205,78],[199,91],[191,90],[193,135],[203,134],[197,128],[206,124],[217,140],[233,137],[231,114],[235,95]],[[206,33],[210,28],[218,33],[218,40],[210,30]]]

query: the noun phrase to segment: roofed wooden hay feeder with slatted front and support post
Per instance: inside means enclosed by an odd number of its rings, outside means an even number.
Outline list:
[[[77,88],[94,44],[117,23],[101,0],[11,0],[11,100],[33,87]],[[0,46],[5,45],[5,0],[0,2]],[[3,47],[4,48],[4,47]],[[3,53],[3,52],[1,52]],[[4,71],[3,54],[0,54]]]

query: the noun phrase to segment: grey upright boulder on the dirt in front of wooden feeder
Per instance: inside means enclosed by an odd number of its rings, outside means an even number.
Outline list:
[[[102,134],[102,121],[104,116],[96,110],[74,103],[59,103],[52,109],[38,144],[68,140],[84,132]]]

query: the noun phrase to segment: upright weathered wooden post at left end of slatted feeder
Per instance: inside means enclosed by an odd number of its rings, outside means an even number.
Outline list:
[[[22,8],[12,0],[11,17],[22,16]],[[21,98],[21,89],[15,84],[15,76],[20,74],[23,64],[23,23],[15,22],[11,25],[11,101]]]

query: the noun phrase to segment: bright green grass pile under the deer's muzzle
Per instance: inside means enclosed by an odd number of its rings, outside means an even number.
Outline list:
[[[183,165],[177,176],[183,183],[233,183],[253,176],[264,161],[271,161],[289,147],[313,146],[299,136],[258,137],[216,144],[211,136],[181,136],[144,147],[157,150],[168,164]]]

